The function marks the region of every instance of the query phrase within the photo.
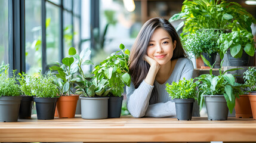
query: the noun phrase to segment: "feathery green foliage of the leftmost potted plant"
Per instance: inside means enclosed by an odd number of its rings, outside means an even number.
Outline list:
[[[0,67],[0,97],[8,96],[14,97],[20,95],[20,88],[17,85],[15,70],[13,71],[13,77],[8,78],[8,64]]]

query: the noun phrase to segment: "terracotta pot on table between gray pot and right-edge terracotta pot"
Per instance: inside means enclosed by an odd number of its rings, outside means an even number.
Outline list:
[[[236,98],[236,117],[237,118],[252,118],[251,104],[248,95],[239,95]]]

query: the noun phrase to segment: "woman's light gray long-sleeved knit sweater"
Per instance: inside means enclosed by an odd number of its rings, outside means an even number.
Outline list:
[[[155,80],[154,86],[144,80],[135,89],[133,83],[127,86],[127,108],[133,117],[176,117],[175,103],[172,102],[165,84],[178,82],[185,77],[191,79],[193,63],[188,58],[179,58],[169,79],[160,84]],[[200,116],[197,102],[193,105],[193,116]]]

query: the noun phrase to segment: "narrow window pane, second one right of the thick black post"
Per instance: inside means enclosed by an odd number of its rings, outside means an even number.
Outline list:
[[[63,13],[63,38],[64,38],[64,57],[69,55],[69,48],[72,46],[72,14],[64,11]],[[75,47],[76,48],[76,47]]]

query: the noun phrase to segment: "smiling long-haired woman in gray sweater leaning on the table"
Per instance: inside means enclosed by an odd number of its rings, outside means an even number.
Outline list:
[[[127,87],[127,107],[132,116],[176,117],[165,84],[192,78],[193,64],[186,57],[168,20],[152,18],[143,25],[130,55],[132,83]],[[193,116],[199,116],[197,103],[193,110]]]

